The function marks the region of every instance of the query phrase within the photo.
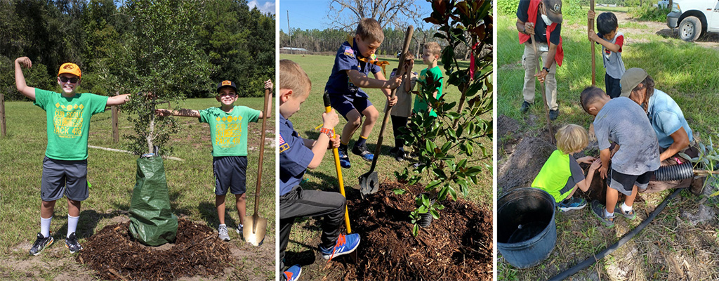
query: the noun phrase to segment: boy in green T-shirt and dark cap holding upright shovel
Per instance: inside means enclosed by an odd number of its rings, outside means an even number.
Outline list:
[[[265,81],[265,88],[272,90],[271,80]],[[220,107],[211,107],[200,111],[180,109],[178,111],[157,109],[160,116],[196,117],[201,123],[210,124],[212,142],[212,167],[215,175],[215,207],[219,218],[217,229],[219,239],[229,241],[224,221],[225,195],[229,191],[235,195],[235,205],[240,222],[237,233],[242,234],[242,220],[245,216],[245,171],[247,170],[247,124],[258,119],[269,118],[262,111],[247,106],[234,106],[237,101],[237,86],[230,80],[217,85],[217,101]],[[271,99],[270,99],[271,101]],[[272,103],[267,115],[272,112]]]

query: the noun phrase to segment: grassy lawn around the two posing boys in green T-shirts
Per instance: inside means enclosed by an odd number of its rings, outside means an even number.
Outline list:
[[[235,105],[262,109],[263,98],[240,98]],[[217,106],[214,98],[191,99],[182,107],[189,109],[206,109]],[[74,258],[63,247],[63,237],[67,231],[67,201],[60,199],[55,206],[50,231],[55,244],[37,257],[29,257],[29,250],[35,234],[40,231],[40,178],[42,175],[42,158],[45,155],[47,142],[45,132],[45,111],[33,106],[30,101],[6,102],[7,137],[0,137],[0,259],[7,261],[51,260],[52,264],[60,259],[60,265],[48,266],[43,262],[24,270],[14,268],[13,262],[3,262],[0,271],[13,272],[3,275],[5,278],[43,278],[54,279],[63,273],[63,267],[75,264]],[[274,115],[274,114],[273,114]],[[267,138],[275,137],[275,118],[267,120]],[[214,175],[212,172],[211,143],[209,142],[209,126],[200,124],[196,119],[180,119],[183,130],[173,136],[171,145],[175,147],[174,157],[184,161],[165,160],[165,175],[170,190],[170,201],[173,213],[192,221],[203,222],[212,229],[217,228],[216,210],[214,208]],[[261,121],[250,124],[248,140],[247,167],[247,213],[252,215],[255,204],[255,184],[257,180],[257,159],[260,143]],[[131,124],[122,116],[119,118],[121,140],[118,144],[112,141],[111,113],[96,114],[91,119],[89,145],[124,149],[123,134],[132,132]],[[116,216],[128,216],[130,198],[135,184],[137,156],[122,152],[110,152],[90,148],[88,157],[88,181],[91,183],[90,198],[83,201],[78,224],[78,237],[81,244],[95,231],[113,224]],[[265,145],[265,162],[262,172],[262,195],[260,200],[260,216],[268,219],[267,237],[262,247],[256,248],[242,241],[241,235],[230,231],[232,241],[239,249],[247,252],[267,252],[268,257],[275,257],[275,147],[273,142]],[[239,222],[237,208],[234,207],[234,196],[227,196],[226,224],[234,227]],[[260,279],[272,279],[275,276],[274,258],[268,260],[238,260],[235,270],[242,274],[255,275]],[[272,264],[268,269],[267,264]],[[81,269],[81,271],[83,271]],[[86,271],[86,270],[85,270]],[[33,275],[25,275],[33,272]],[[28,273],[29,274],[29,273]],[[38,275],[34,275],[38,274]]]

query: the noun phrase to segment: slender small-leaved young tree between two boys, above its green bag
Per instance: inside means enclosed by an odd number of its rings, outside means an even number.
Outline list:
[[[178,132],[174,118],[155,118],[158,103],[177,104],[186,93],[209,88],[211,66],[196,48],[202,1],[131,0],[121,11],[131,29],[113,52],[104,75],[121,93],[133,93],[124,105],[134,134],[129,149],[136,154],[164,147]]]

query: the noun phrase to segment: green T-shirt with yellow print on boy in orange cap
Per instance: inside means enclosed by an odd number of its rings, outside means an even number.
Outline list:
[[[33,104],[47,113],[45,156],[55,160],[86,160],[90,117],[105,111],[107,97],[75,93],[72,98],[66,98],[60,93],[35,88]]]

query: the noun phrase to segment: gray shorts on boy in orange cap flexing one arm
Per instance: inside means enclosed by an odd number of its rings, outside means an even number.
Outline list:
[[[66,161],[45,157],[42,160],[40,199],[50,202],[63,198],[83,201],[88,190],[88,160]]]

